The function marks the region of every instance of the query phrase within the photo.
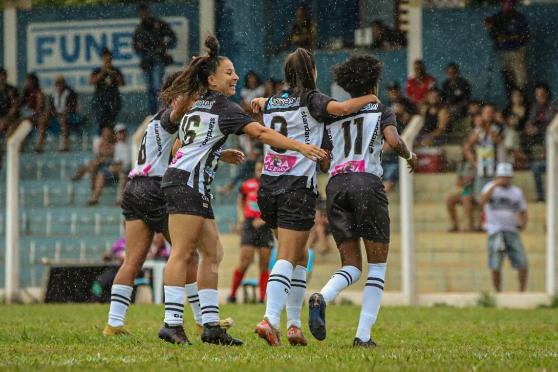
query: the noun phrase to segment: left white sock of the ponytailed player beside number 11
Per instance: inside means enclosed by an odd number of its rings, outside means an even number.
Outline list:
[[[267,281],[266,318],[273,328],[279,328],[281,313],[287,303],[288,292],[291,289],[292,265],[287,260],[278,260],[271,270]]]

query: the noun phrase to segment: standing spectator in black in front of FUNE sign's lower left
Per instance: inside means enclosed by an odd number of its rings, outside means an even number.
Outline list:
[[[104,127],[114,127],[118,113],[122,108],[120,87],[126,85],[122,72],[112,65],[112,53],[104,48],[101,53],[103,64],[94,69],[89,84],[95,85],[93,107],[99,124],[99,133]]]

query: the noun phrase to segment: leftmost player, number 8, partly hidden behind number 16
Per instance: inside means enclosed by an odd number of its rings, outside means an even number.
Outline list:
[[[163,89],[170,87],[179,73],[170,75],[163,83]],[[175,107],[171,107],[175,106]],[[126,218],[126,253],[124,263],[118,270],[111,289],[108,324],[103,335],[129,335],[124,328],[124,318],[131,301],[133,283],[146,260],[153,234],[161,232],[171,242],[169,236],[169,216],[163,192],[161,177],[169,166],[172,145],[175,143],[178,125],[184,113],[191,107],[191,100],[181,97],[165,101],[161,109],[148,124],[140,146],[134,168],[129,173],[131,180],[124,189],[122,213]],[[226,150],[222,154],[230,163],[242,163],[242,153]],[[201,310],[196,284],[197,257],[188,261],[191,273],[186,279],[186,295],[194,312],[196,324],[201,325]],[[224,324],[227,327],[227,324]]]

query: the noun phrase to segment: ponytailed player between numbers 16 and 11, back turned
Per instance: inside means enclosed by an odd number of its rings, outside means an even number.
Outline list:
[[[263,109],[266,127],[285,137],[320,146],[326,120],[348,115],[365,104],[377,102],[373,94],[336,102],[316,91],[316,62],[306,49],[289,54],[284,66],[288,89],[269,99],[256,98],[254,111]],[[305,249],[314,226],[318,191],[316,166],[294,151],[264,146],[264,168],[259,180],[258,205],[262,220],[277,236],[277,261],[267,284],[267,306],[256,333],[269,345],[281,345],[278,331],[283,307],[287,307],[287,338],[291,345],[306,345],[300,330],[300,311],[306,292]]]

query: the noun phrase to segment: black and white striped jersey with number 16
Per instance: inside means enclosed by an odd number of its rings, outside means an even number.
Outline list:
[[[165,172],[161,187],[188,185],[210,196],[210,186],[219,163],[220,147],[229,135],[241,135],[253,118],[223,94],[210,90],[182,118],[182,144]]]

